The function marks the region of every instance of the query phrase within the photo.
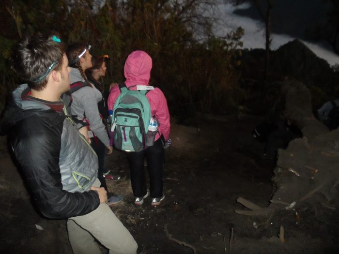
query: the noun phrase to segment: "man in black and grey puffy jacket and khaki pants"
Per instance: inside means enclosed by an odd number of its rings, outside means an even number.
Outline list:
[[[135,254],[138,245],[106,204],[98,188],[98,161],[67,113],[68,60],[56,36],[26,38],[15,49],[13,69],[28,84],[19,86],[0,122],[7,133],[32,200],[47,218],[67,218],[75,254]],[[94,238],[93,238],[94,237]]]

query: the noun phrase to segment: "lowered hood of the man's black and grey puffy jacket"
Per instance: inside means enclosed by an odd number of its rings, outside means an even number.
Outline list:
[[[22,95],[27,95],[27,84],[22,84],[12,92],[8,105],[2,113],[0,121],[0,134],[7,134],[20,121],[44,112],[53,112],[48,105],[38,101],[22,100]],[[52,116],[51,116],[52,117]]]

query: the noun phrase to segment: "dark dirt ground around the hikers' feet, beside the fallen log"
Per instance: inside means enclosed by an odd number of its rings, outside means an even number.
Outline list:
[[[112,210],[138,242],[139,254],[193,253],[169,234],[202,254],[339,253],[338,206],[305,205],[271,218],[266,227],[262,218],[234,212],[245,209],[236,202],[239,196],[266,207],[274,191],[275,162],[258,156],[263,145],[251,137],[258,118],[197,122],[199,127],[187,127],[172,121],[165,200],[158,207],[150,198],[134,205],[124,154],[108,156],[109,168],[124,176],[119,182],[107,180],[111,191],[124,195]],[[0,158],[0,199],[0,253],[72,253],[65,221],[44,219],[35,211],[8,154]],[[284,243],[278,236],[281,225]]]

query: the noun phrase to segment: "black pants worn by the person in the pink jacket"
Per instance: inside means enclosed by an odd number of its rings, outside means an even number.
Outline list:
[[[144,159],[146,156],[148,173],[150,176],[151,197],[162,196],[162,175],[164,162],[164,148],[161,139],[154,142],[152,147],[139,152],[127,152],[127,159],[131,171],[131,184],[135,197],[143,197],[146,192],[144,174]]]

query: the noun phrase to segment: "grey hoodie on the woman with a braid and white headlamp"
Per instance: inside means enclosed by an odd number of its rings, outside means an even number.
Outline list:
[[[70,67],[69,73],[71,83],[82,81],[85,82],[80,72],[76,68]],[[98,110],[98,102],[102,100],[102,94],[94,86],[83,87],[72,93],[73,102],[71,104],[72,115],[76,115],[77,119],[82,120],[86,116],[86,120],[90,123],[91,131],[104,143],[109,146],[109,138],[105,125],[102,122]]]

